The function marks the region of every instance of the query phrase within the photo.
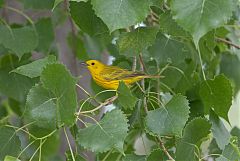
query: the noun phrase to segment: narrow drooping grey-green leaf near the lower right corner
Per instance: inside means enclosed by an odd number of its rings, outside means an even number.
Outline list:
[[[213,137],[216,139],[218,147],[223,150],[225,145],[230,141],[230,133],[227,128],[224,126],[223,122],[220,120],[217,114],[214,111],[210,110],[210,122],[212,124],[211,131]]]

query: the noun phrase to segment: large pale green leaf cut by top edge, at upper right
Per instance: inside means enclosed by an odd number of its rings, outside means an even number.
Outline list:
[[[234,0],[173,0],[174,19],[189,31],[195,45],[208,31],[222,26],[232,16]]]

